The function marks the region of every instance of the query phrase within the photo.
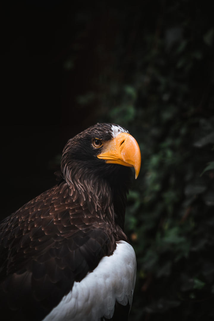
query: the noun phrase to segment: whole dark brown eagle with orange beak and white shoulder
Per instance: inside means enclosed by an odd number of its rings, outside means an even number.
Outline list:
[[[64,147],[57,184],[0,224],[1,320],[127,320],[136,257],[124,233],[141,153],[98,123]]]

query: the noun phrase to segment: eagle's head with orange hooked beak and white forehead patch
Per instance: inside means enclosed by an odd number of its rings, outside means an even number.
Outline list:
[[[124,127],[98,123],[67,142],[61,169],[66,181],[71,181],[74,176],[82,180],[86,171],[87,176],[107,178],[120,171],[118,165],[134,167],[137,178],[141,167],[139,145]]]

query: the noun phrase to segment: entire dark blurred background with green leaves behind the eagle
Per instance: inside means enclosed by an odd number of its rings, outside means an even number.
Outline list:
[[[142,154],[130,320],[213,320],[213,2],[1,6],[1,218],[55,185],[69,138],[120,124]]]

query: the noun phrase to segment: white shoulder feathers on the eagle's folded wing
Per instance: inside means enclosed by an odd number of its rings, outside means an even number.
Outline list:
[[[111,318],[115,302],[131,306],[136,279],[136,257],[127,242],[117,243],[113,255],[103,257],[93,272],[44,318],[44,321],[98,321]]]

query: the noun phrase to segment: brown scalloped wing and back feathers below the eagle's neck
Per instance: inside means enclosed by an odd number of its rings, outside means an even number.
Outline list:
[[[6,218],[0,225],[2,311],[8,303],[16,319],[30,311],[32,320],[43,318],[74,281],[111,255],[116,234],[104,216],[98,205],[73,201],[62,182]]]

